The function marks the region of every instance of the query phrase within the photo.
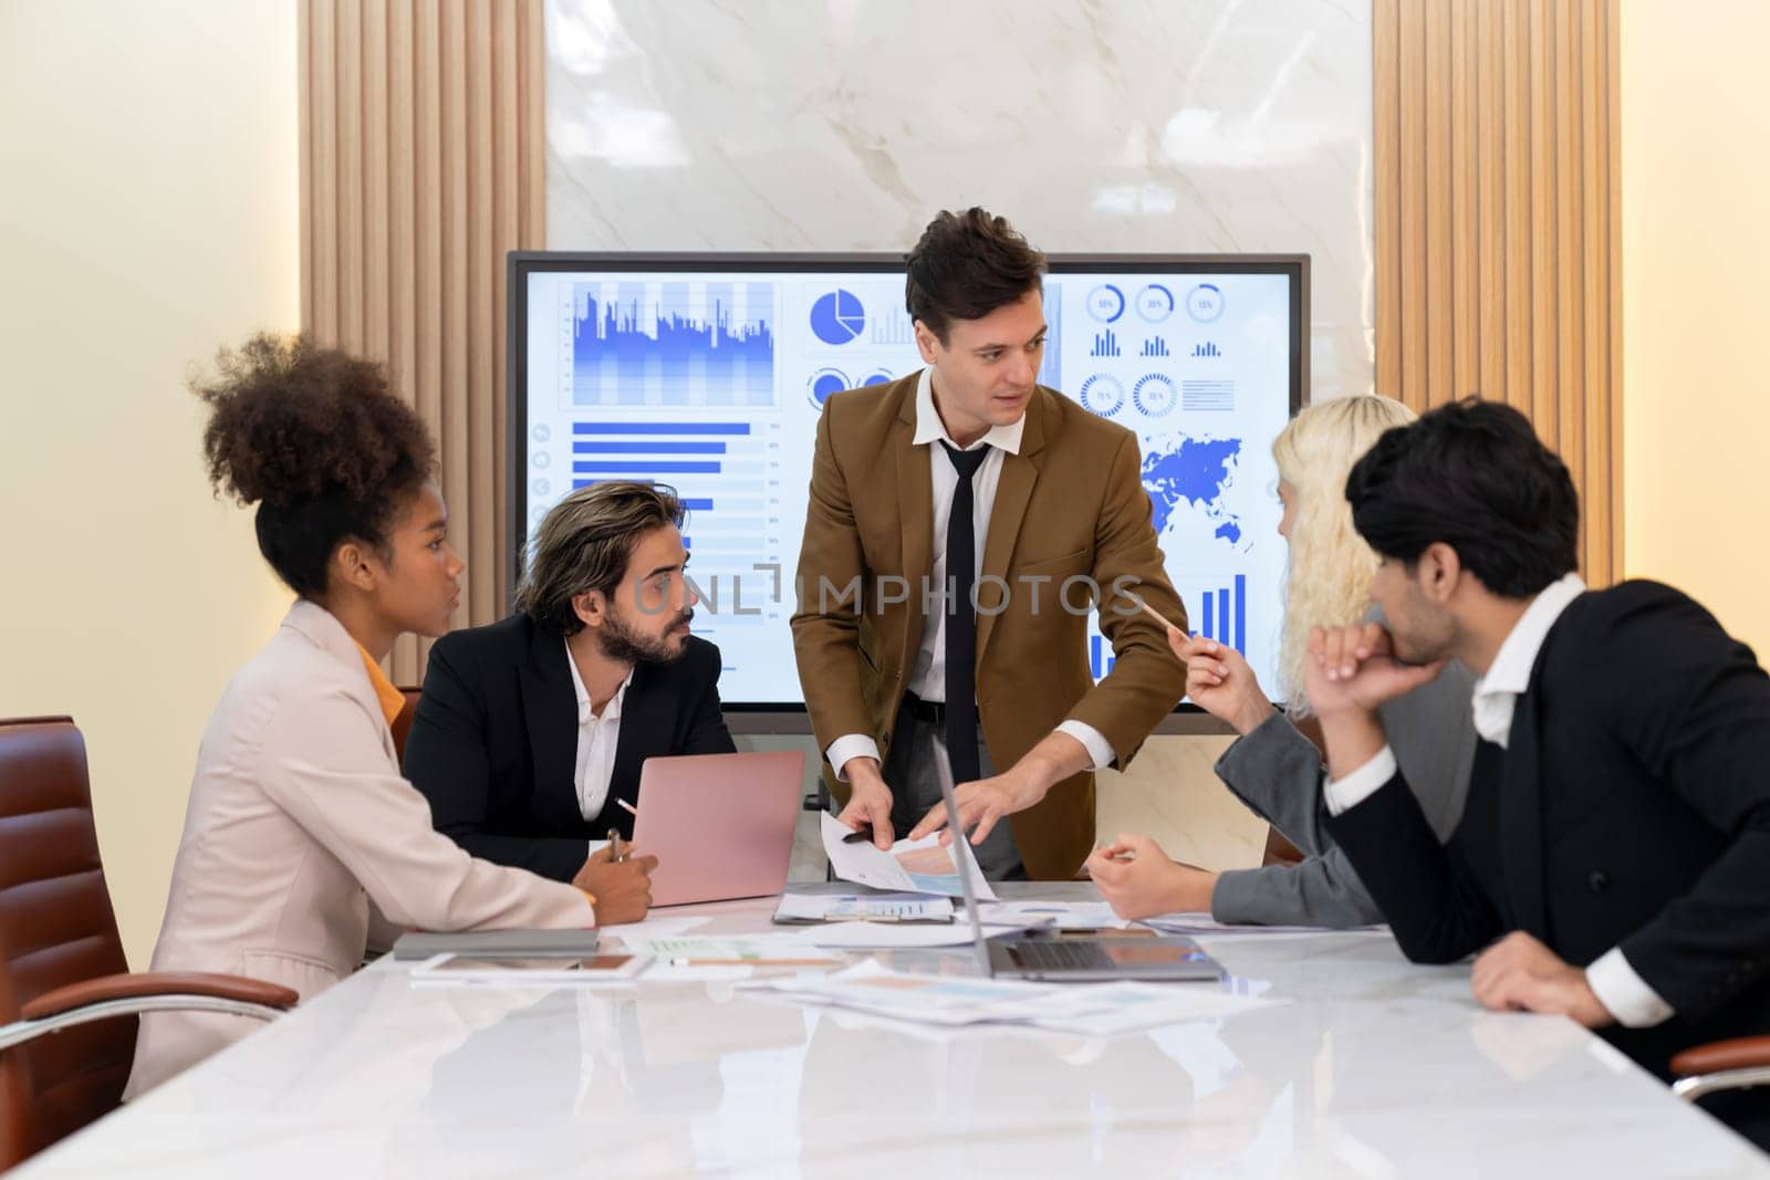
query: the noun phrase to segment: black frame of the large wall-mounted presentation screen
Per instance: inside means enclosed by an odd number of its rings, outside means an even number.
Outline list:
[[[782,272],[903,272],[904,257],[892,253],[773,253],[773,251],[568,251],[512,249],[504,265],[504,609],[515,609],[517,582],[522,577],[527,513],[522,490],[527,487],[527,313],[529,274],[561,271],[782,271]],[[1119,271],[1124,274],[1285,274],[1290,280],[1289,317],[1289,410],[1296,418],[1308,402],[1310,334],[1310,255],[1046,255],[1048,274]],[[722,701],[726,713],[798,715],[804,701]],[[1179,704],[1175,713],[1202,713],[1195,704]]]

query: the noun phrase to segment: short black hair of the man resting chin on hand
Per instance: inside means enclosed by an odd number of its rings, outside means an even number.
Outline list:
[[[1412,566],[1443,541],[1494,594],[1529,598],[1579,568],[1566,464],[1510,405],[1466,398],[1382,433],[1345,481],[1352,525]]]

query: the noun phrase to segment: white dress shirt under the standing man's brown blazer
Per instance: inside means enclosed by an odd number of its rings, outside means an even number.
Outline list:
[[[915,386],[915,446],[933,448],[927,456],[927,472],[935,490],[935,568],[929,573],[929,586],[947,584],[947,517],[952,513],[952,497],[959,488],[959,472],[952,467],[940,444],[954,449],[975,451],[981,446],[993,448],[972,476],[972,538],[977,547],[972,570],[982,575],[984,541],[989,538],[989,513],[995,508],[997,487],[1002,483],[1002,456],[1020,455],[1020,435],[1027,428],[1027,416],[1011,426],[991,426],[989,432],[966,448],[959,448],[947,433],[947,425],[940,421],[935,409],[935,370],[924,368],[922,379]],[[920,593],[920,587],[910,587]],[[933,603],[931,603],[933,605]],[[910,670],[910,692],[922,701],[947,699],[947,612],[931,609],[922,617],[922,644],[915,653],[915,667]],[[1078,720],[1066,720],[1057,725],[1057,732],[1069,734],[1089,750],[1094,770],[1104,770],[1113,762],[1112,743],[1092,725]],[[880,757],[880,747],[871,734],[843,734],[830,743],[825,752],[835,777],[846,782],[843,766],[851,757]],[[998,768],[1005,770],[1005,768]]]

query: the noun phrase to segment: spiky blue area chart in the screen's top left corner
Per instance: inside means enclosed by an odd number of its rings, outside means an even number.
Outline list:
[[[773,283],[573,287],[575,405],[773,405]]]

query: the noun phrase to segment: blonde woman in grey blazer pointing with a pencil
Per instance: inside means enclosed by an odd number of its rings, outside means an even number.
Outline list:
[[[1218,922],[1267,925],[1366,925],[1382,922],[1345,853],[1322,821],[1322,755],[1304,734],[1303,658],[1312,626],[1363,619],[1372,610],[1377,556],[1352,529],[1345,478],[1382,432],[1414,419],[1400,402],[1336,398],[1297,414],[1273,442],[1290,545],[1285,628],[1274,709],[1248,662],[1209,639],[1168,632],[1186,663],[1186,695],[1235,727],[1241,738],[1218,759],[1218,777],[1303,853],[1296,865],[1207,872],[1170,860],[1149,837],[1120,835],[1089,858],[1101,895],[1126,918],[1209,911]],[[1397,761],[1437,837],[1462,816],[1474,759],[1471,676],[1457,663],[1427,686],[1382,708]]]

